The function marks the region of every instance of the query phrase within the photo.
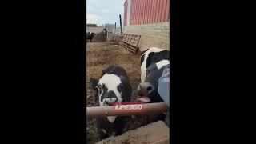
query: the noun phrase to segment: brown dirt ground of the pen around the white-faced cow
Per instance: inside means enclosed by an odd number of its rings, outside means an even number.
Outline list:
[[[102,70],[111,64],[122,66],[130,78],[133,90],[137,88],[140,82],[140,54],[130,54],[128,50],[114,42],[86,42],[86,106],[92,106],[94,100],[94,91],[89,85],[90,78],[99,78]],[[129,122],[126,129],[134,130],[144,125],[145,116],[137,116]],[[98,142],[94,118],[87,119],[86,138],[86,143]]]

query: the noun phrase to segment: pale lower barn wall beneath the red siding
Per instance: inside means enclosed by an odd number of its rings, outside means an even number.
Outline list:
[[[142,35],[138,47],[140,51],[149,47],[159,47],[170,50],[170,26],[169,22],[124,26],[124,33]]]

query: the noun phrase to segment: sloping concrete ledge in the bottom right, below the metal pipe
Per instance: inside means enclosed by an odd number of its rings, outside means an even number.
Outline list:
[[[117,137],[106,138],[97,144],[166,144],[170,143],[169,133],[169,127],[166,126],[165,122],[158,121],[136,130],[127,131]]]

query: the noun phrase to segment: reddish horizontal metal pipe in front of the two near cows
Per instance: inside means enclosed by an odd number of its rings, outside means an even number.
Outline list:
[[[166,111],[167,106],[165,102],[86,107],[86,115],[89,118],[106,116],[161,114]]]

